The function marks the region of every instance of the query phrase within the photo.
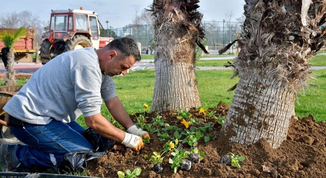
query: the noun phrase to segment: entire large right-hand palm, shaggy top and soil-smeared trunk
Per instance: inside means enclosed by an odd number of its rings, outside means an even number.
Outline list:
[[[286,139],[296,93],[311,78],[307,60],[325,44],[326,2],[310,3],[246,0],[233,64],[240,80],[222,128],[230,141],[266,139],[276,149]]]

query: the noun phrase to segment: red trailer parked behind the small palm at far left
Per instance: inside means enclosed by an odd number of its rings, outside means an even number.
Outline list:
[[[0,33],[3,31],[13,32],[14,28],[0,28]],[[35,53],[35,33],[34,28],[26,29],[26,36],[20,37],[20,39],[14,45],[15,61],[19,62],[36,62],[36,59],[31,54]],[[4,43],[0,40],[0,55],[1,49],[4,48]]]

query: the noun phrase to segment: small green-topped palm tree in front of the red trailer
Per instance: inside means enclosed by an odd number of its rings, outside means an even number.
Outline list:
[[[5,84],[15,84],[15,55],[14,55],[14,44],[17,43],[18,39],[21,36],[26,35],[26,29],[24,27],[20,27],[15,29],[13,32],[3,31],[0,34],[0,40],[4,42],[5,46],[9,48],[8,52],[8,70],[6,72],[6,80]]]

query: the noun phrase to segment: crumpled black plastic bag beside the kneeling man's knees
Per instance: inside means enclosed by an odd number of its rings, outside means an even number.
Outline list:
[[[102,137],[91,128],[85,130],[84,137],[93,145],[93,150],[75,151],[66,153],[63,159],[54,167],[58,173],[84,172],[88,165],[87,162],[97,159],[111,151],[115,141]]]

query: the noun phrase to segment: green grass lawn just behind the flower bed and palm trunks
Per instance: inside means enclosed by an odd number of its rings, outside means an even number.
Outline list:
[[[216,106],[220,101],[231,104],[234,91],[226,92],[230,87],[237,83],[238,77],[230,80],[232,76],[231,70],[203,70],[196,71],[198,90],[202,101],[202,106],[207,109]],[[309,83],[319,85],[319,87],[310,86],[309,90],[297,95],[298,102],[295,103],[295,112],[299,117],[312,114],[318,121],[326,121],[326,111],[324,103],[326,103],[326,70],[313,71],[313,75],[317,80]],[[17,80],[17,84],[24,84],[27,80]],[[141,70],[131,71],[126,76],[114,77],[116,83],[117,95],[122,101],[126,111],[131,113],[143,112],[143,104],[147,103],[151,106],[154,88],[154,71]],[[305,94],[306,96],[303,96]],[[111,115],[105,105],[101,108],[102,114],[106,118]],[[83,116],[78,118],[78,123],[83,127]]]

